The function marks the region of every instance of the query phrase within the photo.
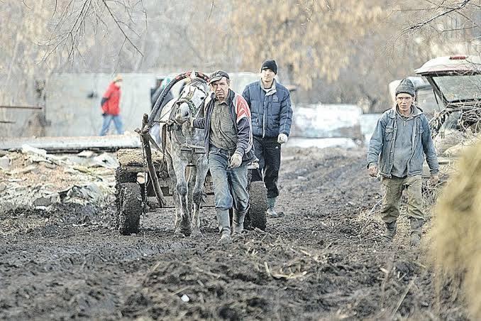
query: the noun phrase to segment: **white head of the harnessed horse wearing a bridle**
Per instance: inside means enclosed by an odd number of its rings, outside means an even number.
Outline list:
[[[190,117],[196,117],[207,98],[209,87],[207,82],[196,78],[189,84],[185,85],[184,89],[177,99],[177,111],[175,111],[174,120],[177,124],[184,124]]]

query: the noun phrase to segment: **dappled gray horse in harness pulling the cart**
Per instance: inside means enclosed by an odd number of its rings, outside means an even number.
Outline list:
[[[182,89],[179,99],[165,105],[159,117],[160,126],[152,132],[157,143],[165,143],[162,149],[175,200],[176,234],[201,236],[199,212],[209,166],[204,151],[204,130],[194,129],[189,119],[203,116],[208,92],[207,83],[194,78]],[[163,129],[163,126],[167,127]]]

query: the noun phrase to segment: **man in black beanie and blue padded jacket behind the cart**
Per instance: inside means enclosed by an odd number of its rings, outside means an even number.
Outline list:
[[[282,217],[274,210],[279,196],[281,144],[287,142],[292,124],[292,108],[289,90],[276,82],[275,60],[265,60],[260,67],[260,80],[247,85],[243,92],[250,106],[254,135],[255,156],[259,158],[259,170],[253,171],[252,180],[264,180],[267,187],[268,217]]]

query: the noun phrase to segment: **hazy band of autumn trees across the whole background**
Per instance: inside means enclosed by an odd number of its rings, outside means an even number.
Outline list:
[[[33,104],[51,72],[257,71],[275,58],[304,101],[385,109],[391,80],[481,47],[480,2],[0,1],[0,103]]]

